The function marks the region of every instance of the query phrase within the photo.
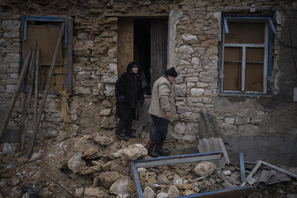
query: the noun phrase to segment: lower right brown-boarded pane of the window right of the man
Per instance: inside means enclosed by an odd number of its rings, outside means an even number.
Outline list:
[[[245,64],[245,91],[263,91],[263,64]]]

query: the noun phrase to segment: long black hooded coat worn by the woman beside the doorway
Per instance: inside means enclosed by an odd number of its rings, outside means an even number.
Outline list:
[[[127,66],[127,72],[123,73],[116,81],[116,96],[124,96],[124,102],[116,100],[116,117],[128,120],[135,101],[134,120],[138,120],[138,101],[144,100],[141,81],[138,75],[131,73],[132,65]],[[138,69],[139,71],[139,69]]]

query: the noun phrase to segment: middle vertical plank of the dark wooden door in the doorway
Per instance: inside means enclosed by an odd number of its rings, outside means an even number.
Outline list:
[[[162,73],[162,52],[163,52],[163,49],[162,49],[162,20],[161,19],[157,19],[157,22],[156,22],[156,40],[157,40],[157,43],[156,43],[156,50],[157,50],[157,57],[156,57],[156,80],[161,77],[163,75]]]

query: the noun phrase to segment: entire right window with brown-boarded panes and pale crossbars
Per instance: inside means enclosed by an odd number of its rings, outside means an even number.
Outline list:
[[[271,22],[268,18],[223,18],[220,92],[267,94],[271,75]],[[273,26],[273,24],[272,24]]]

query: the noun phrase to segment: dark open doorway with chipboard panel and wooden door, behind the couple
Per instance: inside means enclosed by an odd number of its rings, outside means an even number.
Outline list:
[[[118,74],[135,61],[146,78],[143,90],[150,95],[152,85],[167,69],[168,18],[119,18],[118,23]]]

